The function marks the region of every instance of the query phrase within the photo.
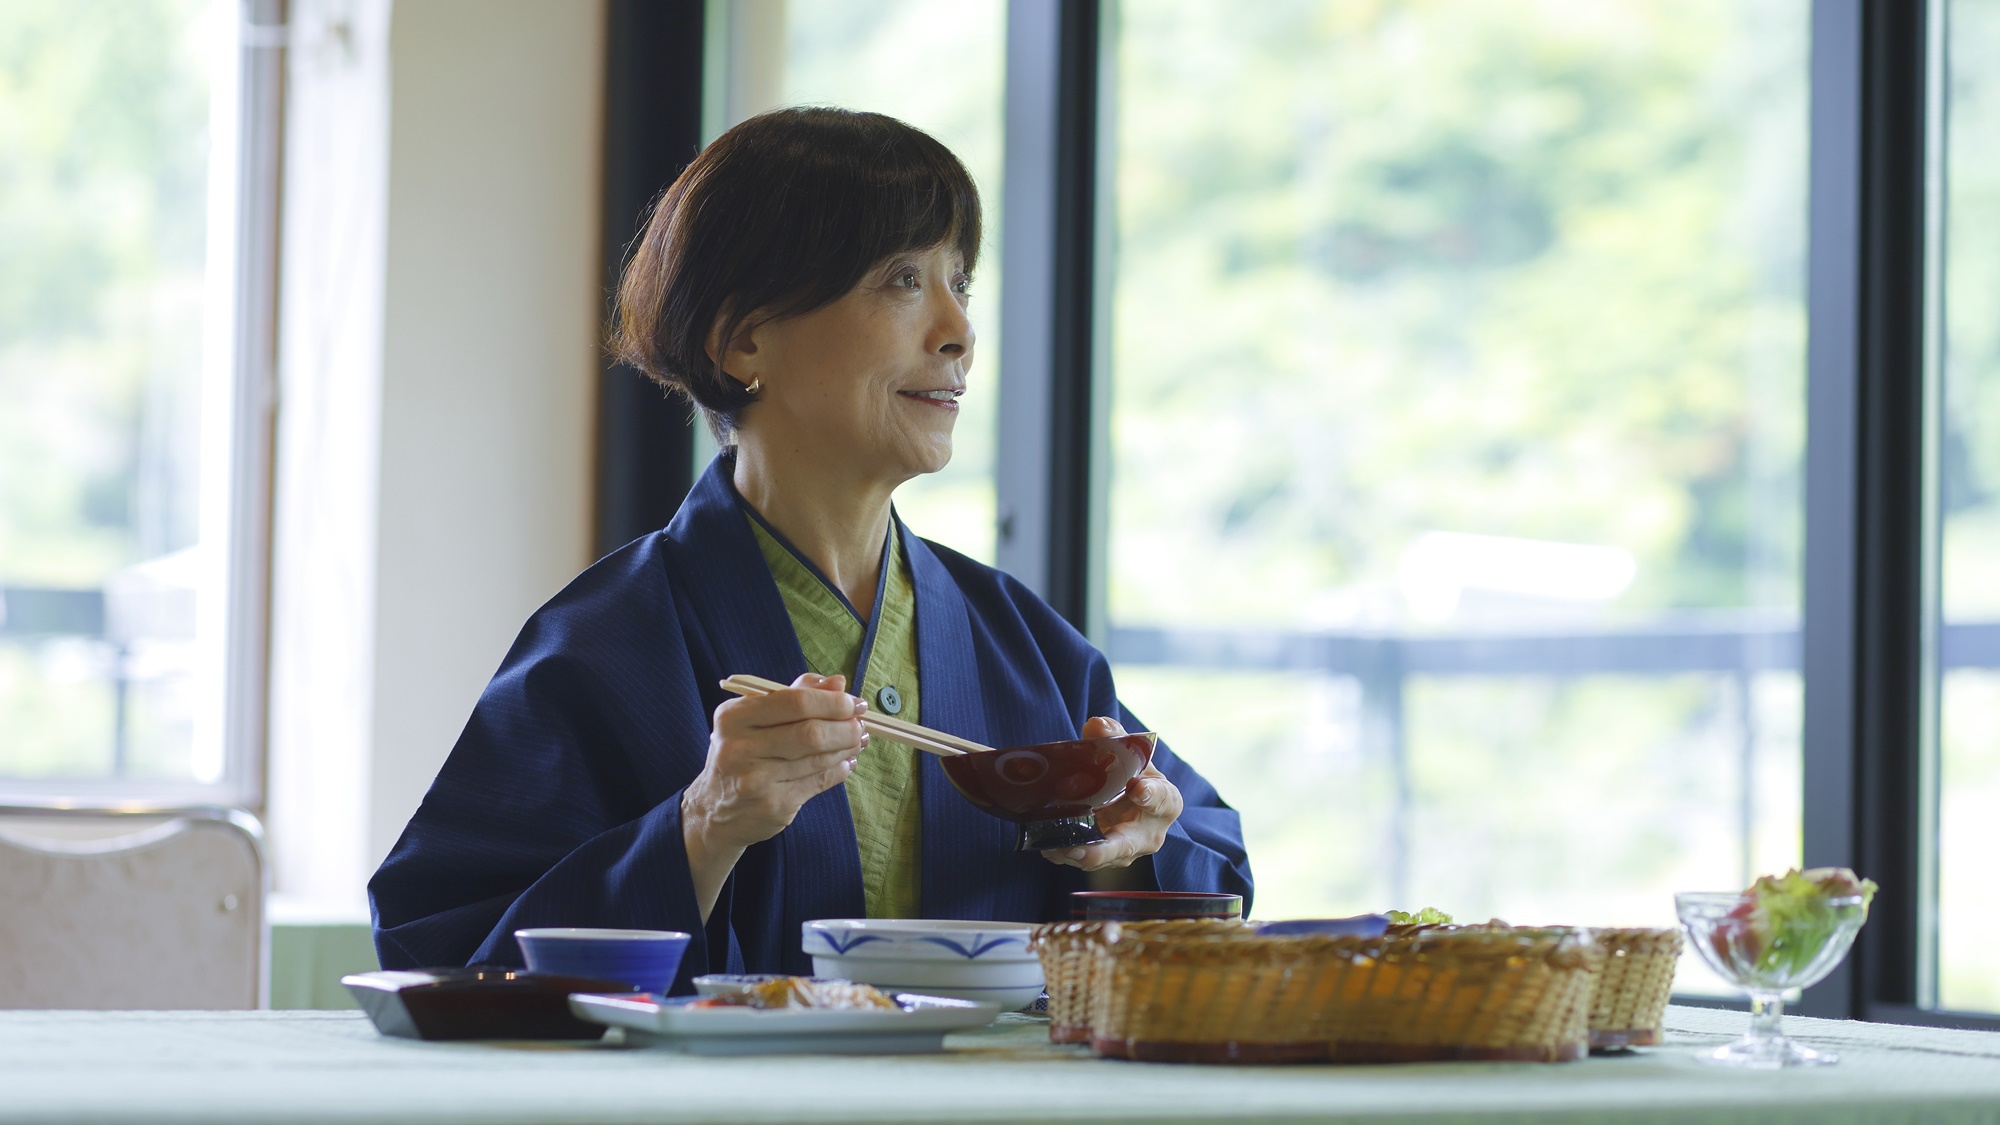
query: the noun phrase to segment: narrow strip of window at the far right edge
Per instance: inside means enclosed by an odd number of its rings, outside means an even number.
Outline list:
[[[1942,92],[1944,334],[1936,470],[1940,611],[1936,703],[1936,1003],[2000,1011],[2000,4],[1952,0]],[[1938,60],[1934,60],[1936,64]],[[1936,134],[1934,134],[1936,136]],[[1936,274],[1934,274],[1936,276]]]

